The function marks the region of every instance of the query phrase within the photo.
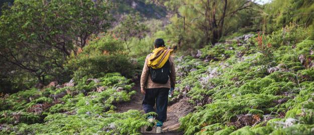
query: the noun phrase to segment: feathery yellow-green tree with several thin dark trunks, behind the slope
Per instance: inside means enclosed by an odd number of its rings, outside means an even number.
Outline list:
[[[183,33],[179,36],[179,43],[182,40],[192,40],[200,44],[216,43],[218,40],[235,29],[247,24],[245,21],[253,13],[247,13],[254,10],[257,6],[251,0],[175,0],[165,2],[167,6],[176,7],[178,2],[181,3],[177,9],[178,13],[172,17],[172,26],[180,28]],[[181,21],[181,22],[178,22]],[[249,20],[252,21],[252,20]],[[178,27],[178,25],[180,25]],[[173,29],[177,29],[173,28]],[[178,29],[177,29],[178,30]],[[198,37],[194,31],[201,32]],[[193,33],[188,36],[186,33]],[[182,36],[183,35],[183,36]],[[202,36],[204,35],[204,36]],[[188,37],[186,37],[188,36]],[[190,39],[191,37],[195,39]],[[203,37],[203,42],[198,41]],[[187,39],[186,39],[187,38]]]

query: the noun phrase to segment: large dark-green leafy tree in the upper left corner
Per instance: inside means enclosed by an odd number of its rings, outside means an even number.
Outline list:
[[[1,62],[45,83],[45,76],[66,71],[67,56],[91,34],[109,27],[109,11],[109,3],[100,0],[15,0],[0,18]]]

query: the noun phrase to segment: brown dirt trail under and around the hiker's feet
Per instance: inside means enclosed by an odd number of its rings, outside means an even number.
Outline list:
[[[142,100],[144,98],[144,94],[141,93],[141,87],[139,83],[133,87],[136,89],[136,94],[132,97],[130,102],[125,102],[121,104],[117,104],[117,112],[125,112],[129,109],[137,109],[143,110]],[[180,99],[179,101],[169,105],[167,108],[167,120],[163,124],[163,134],[167,135],[177,135],[183,134],[183,132],[177,131],[180,126],[179,118],[186,115],[188,112],[192,111],[192,105],[189,105],[186,102],[186,99]],[[142,134],[155,134],[155,128],[147,132],[145,129],[141,130]]]

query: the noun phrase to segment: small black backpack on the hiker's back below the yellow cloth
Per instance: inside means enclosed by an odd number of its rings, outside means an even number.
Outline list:
[[[149,72],[151,75],[152,81],[156,83],[165,84],[168,82],[169,74],[170,74],[170,62],[169,59],[161,68],[154,69],[152,67],[149,68]]]

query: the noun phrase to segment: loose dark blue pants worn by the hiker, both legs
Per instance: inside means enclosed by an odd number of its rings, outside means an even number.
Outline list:
[[[143,108],[145,113],[156,112],[156,119],[164,122],[167,118],[169,88],[146,88],[146,93],[143,99]],[[154,105],[156,103],[156,111]]]

